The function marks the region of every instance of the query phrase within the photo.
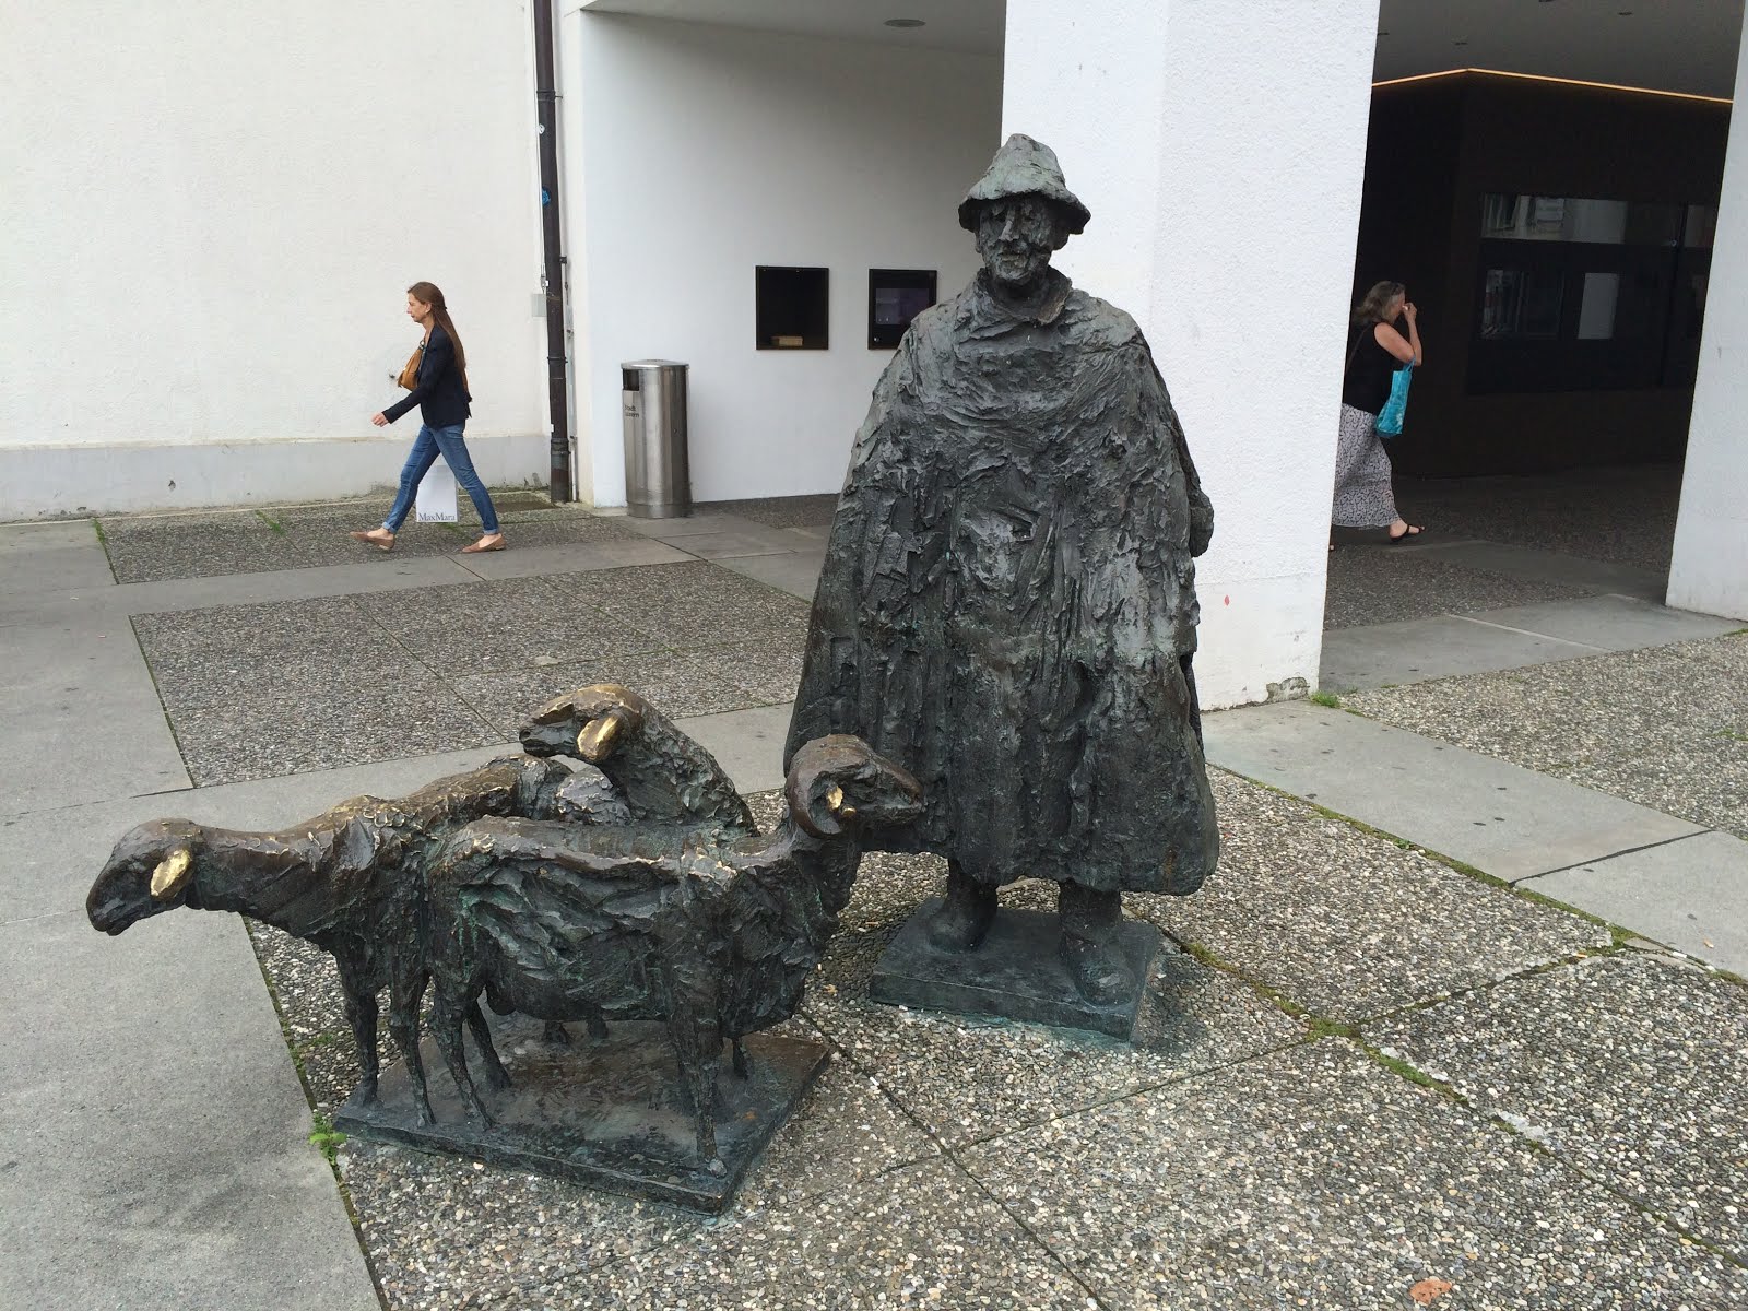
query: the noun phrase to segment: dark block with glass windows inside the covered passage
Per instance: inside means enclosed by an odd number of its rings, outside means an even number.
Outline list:
[[[1400,472],[1682,460],[1729,115],[1484,72],[1374,91],[1356,297],[1405,283],[1426,343]]]

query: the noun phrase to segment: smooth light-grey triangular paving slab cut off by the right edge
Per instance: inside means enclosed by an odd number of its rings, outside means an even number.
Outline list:
[[[1748,843],[1731,834],[1696,834],[1519,886],[1748,974]]]

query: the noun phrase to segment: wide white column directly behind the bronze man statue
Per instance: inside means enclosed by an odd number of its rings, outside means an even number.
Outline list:
[[[1206,706],[1316,687],[1377,0],[1009,0],[1002,131],[1092,210],[1059,266],[1140,322],[1215,505]]]

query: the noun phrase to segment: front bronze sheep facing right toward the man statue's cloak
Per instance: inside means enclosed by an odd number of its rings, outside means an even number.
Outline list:
[[[837,930],[857,836],[912,820],[921,790],[860,739],[829,736],[795,753],[787,802],[767,837],[514,818],[456,830],[430,867],[432,1033],[472,1115],[491,1122],[461,1047],[482,993],[547,1021],[664,1021],[697,1155],[720,1169],[722,1044],[745,1077],[741,1038],[795,1014]]]

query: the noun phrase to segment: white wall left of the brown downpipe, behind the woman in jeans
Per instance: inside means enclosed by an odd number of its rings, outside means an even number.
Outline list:
[[[526,0],[7,5],[0,516],[392,482],[420,278],[481,463],[544,479],[530,33]]]

